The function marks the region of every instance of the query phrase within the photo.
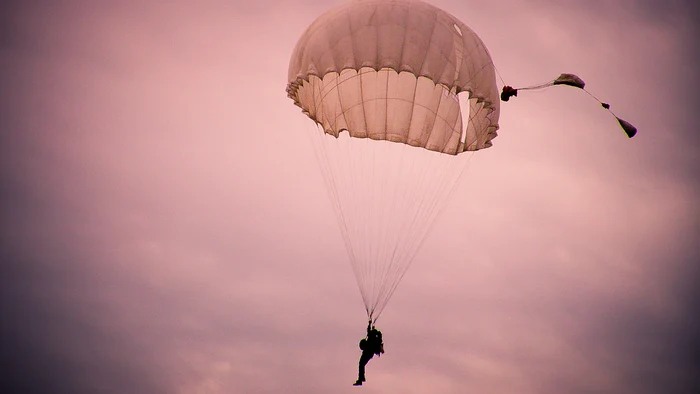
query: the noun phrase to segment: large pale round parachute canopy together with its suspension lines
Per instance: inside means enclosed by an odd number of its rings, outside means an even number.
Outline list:
[[[287,93],[318,126],[309,132],[376,320],[464,170],[469,157],[460,154],[496,137],[493,62],[481,39],[439,8],[359,0],[304,32]]]

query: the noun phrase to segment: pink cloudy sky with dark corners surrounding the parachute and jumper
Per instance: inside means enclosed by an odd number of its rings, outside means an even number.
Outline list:
[[[576,89],[502,103],[356,388],[366,316],[285,92],[341,3],[3,3],[2,391],[699,392],[697,4],[432,1],[507,84],[575,73],[639,133]]]

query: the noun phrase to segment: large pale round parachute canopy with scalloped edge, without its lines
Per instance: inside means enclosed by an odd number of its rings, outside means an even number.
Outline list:
[[[448,154],[487,148],[496,137],[488,50],[469,27],[421,1],[359,0],[328,11],[300,38],[288,77],[289,97],[336,137],[348,131]]]

